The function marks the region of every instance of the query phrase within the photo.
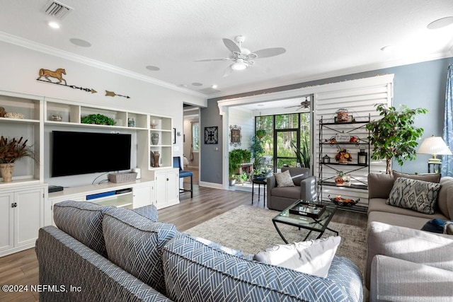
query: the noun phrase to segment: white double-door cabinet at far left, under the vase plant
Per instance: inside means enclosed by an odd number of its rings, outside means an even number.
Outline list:
[[[0,192],[0,257],[32,248],[44,226],[47,185]]]

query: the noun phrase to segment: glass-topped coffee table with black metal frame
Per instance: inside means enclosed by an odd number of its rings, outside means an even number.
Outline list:
[[[300,204],[301,202],[309,203],[305,200],[298,199],[296,202],[291,204],[289,207],[284,209],[280,214],[278,214],[277,216],[275,216],[272,219],[275,229],[277,230],[278,234],[283,239],[283,241],[285,241],[285,243],[288,243],[288,241],[286,240],[285,236],[283,236],[282,232],[278,228],[277,222],[287,224],[289,226],[297,226],[299,229],[303,228],[305,230],[308,230],[309,233],[306,234],[303,241],[305,241],[306,238],[308,238],[310,236],[312,231],[319,232],[319,236],[316,239],[321,238],[321,236],[323,236],[323,233],[324,233],[324,231],[326,231],[326,229],[328,229],[329,231],[333,231],[333,233],[336,233],[338,236],[338,231],[328,228],[328,223],[331,222],[333,214],[335,214],[335,212],[338,209],[338,207],[335,204],[321,203],[321,205],[323,205],[325,207],[325,209],[324,209],[323,213],[321,214],[321,216],[319,216],[319,218],[289,213],[289,209],[292,209],[293,207],[297,206],[297,204]],[[311,204],[317,204],[317,203],[311,202]]]

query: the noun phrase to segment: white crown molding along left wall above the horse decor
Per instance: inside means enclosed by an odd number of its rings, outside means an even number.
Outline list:
[[[0,32],[0,41],[13,44],[13,45],[18,45],[21,47],[28,48],[30,50],[35,50],[37,52],[42,52],[45,54],[50,54],[55,57],[60,57],[62,59],[67,59],[69,61],[85,64],[91,67],[95,67],[98,69],[103,69],[105,71],[110,71],[115,74],[120,74],[122,76],[127,76],[128,78],[136,79],[139,81],[144,81],[147,83],[154,84],[156,86],[161,86],[164,88],[171,89],[173,91],[179,91],[181,93],[185,93],[188,95],[194,95],[197,97],[202,97],[202,98],[207,98],[207,95],[204,93],[199,93],[197,91],[191,91],[190,89],[186,89],[183,87],[176,86],[171,83],[167,83],[164,81],[160,81],[154,78],[151,78],[149,76],[144,76],[142,74],[138,74],[137,72],[134,71],[129,71],[127,69],[122,69],[117,66],[113,66],[111,64],[106,64],[94,59],[89,59],[87,57],[79,56],[78,54],[73,54],[71,52],[67,52],[64,50],[59,50],[55,47],[50,47],[47,45],[40,44],[38,42],[33,42],[30,40],[23,39],[22,37],[18,37],[16,35],[10,35],[8,33]]]

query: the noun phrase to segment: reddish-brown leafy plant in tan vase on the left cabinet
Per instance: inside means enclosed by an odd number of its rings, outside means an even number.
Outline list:
[[[23,141],[23,137],[0,138],[0,173],[4,182],[11,182],[16,161],[24,157],[35,159],[35,153],[31,146],[27,146],[27,142],[28,139]]]

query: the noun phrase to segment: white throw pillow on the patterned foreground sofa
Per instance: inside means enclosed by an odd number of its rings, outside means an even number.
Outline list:
[[[275,245],[253,256],[253,260],[297,270],[305,274],[327,277],[333,256],[340,245],[340,236]]]

